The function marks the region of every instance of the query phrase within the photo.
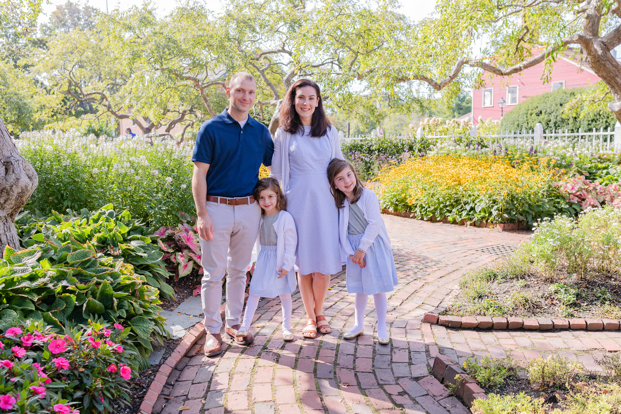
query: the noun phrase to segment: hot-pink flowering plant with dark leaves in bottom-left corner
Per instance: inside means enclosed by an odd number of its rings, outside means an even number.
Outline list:
[[[11,326],[0,335],[0,409],[15,413],[112,412],[129,404],[134,351],[119,323],[67,328],[45,322]]]

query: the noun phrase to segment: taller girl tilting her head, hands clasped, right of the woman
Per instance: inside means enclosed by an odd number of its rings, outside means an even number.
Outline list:
[[[388,344],[386,331],[386,292],[397,286],[397,269],[386,225],[381,218],[379,200],[366,189],[349,161],[335,158],[328,165],[328,179],[338,207],[338,236],[347,254],[345,283],[348,293],[356,294],[355,325],[343,338],[351,339],[365,331],[368,295],[373,295],[378,316],[378,341]]]

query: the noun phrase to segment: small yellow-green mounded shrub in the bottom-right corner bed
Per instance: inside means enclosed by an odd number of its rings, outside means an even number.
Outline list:
[[[582,371],[584,366],[580,362],[559,355],[531,359],[527,367],[528,380],[537,388],[567,388]]]

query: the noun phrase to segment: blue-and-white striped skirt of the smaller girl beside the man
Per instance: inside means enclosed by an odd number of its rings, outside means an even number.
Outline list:
[[[293,293],[297,286],[294,269],[280,279],[278,279],[277,270],[280,269],[276,269],[276,246],[261,245],[261,251],[256,258],[255,272],[250,279],[248,294],[276,297],[283,293]]]

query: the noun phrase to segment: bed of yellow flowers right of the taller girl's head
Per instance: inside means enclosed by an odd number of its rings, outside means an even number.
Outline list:
[[[417,218],[532,223],[569,207],[551,186],[556,175],[547,159],[413,157],[384,169],[376,191],[383,207]]]

